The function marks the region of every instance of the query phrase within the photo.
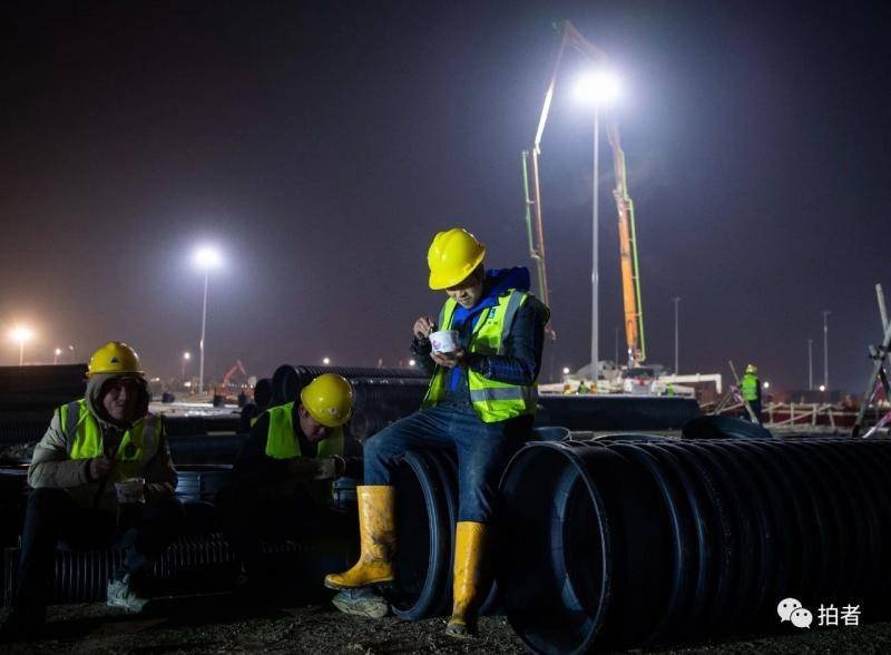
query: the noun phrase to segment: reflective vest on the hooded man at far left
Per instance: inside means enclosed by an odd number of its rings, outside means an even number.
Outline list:
[[[105,454],[102,430],[96,417],[90,413],[86,400],[69,402],[59,408],[59,418],[65,434],[66,450],[71,459],[92,459]],[[124,433],[117,452],[114,454],[111,472],[105,481],[100,509],[115,509],[117,506],[115,482],[127,478],[143,477],[148,462],[158,453],[160,443],[160,421],[155,414],[147,414]],[[90,482],[67,489],[75,502],[92,508],[100,482]]]

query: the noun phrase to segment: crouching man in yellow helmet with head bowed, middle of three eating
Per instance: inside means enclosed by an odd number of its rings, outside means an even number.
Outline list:
[[[272,573],[262,538],[354,532],[355,517],[330,508],[336,478],[362,477],[361,447],[343,431],[352,411],[350,382],[324,373],[301,390],[300,402],[270,408],[251,429],[235,460],[235,482],[218,498],[246,588],[264,590],[264,574]]]

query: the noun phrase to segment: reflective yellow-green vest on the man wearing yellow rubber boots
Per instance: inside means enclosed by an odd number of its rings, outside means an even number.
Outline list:
[[[513,289],[500,295],[497,305],[482,310],[473,326],[467,350],[487,355],[505,354],[505,336],[510,331],[517,312],[528,299],[528,293]],[[453,299],[446,301],[439,314],[440,330],[451,330],[457,306],[458,303]],[[430,387],[427,390],[422,407],[434,407],[442,401],[446,397],[449,373],[450,371],[444,366],[437,366],[437,371],[430,380]],[[520,387],[518,384],[497,382],[482,377],[471,369],[467,370],[467,381],[470,390],[470,402],[473,409],[477,410],[477,414],[486,423],[506,421],[523,414],[535,414],[536,412],[537,387],[535,384]]]

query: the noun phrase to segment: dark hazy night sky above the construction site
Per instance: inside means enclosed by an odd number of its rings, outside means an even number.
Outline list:
[[[777,8],[782,4],[782,8]],[[861,391],[888,276],[885,4],[774,2],[12,2],[0,9],[0,329],[27,360],[136,346],[153,375],[197,353],[388,365],[442,297],[432,235],[466,226],[492,267],[529,265],[520,151],[571,20],[623,78],[611,109],[636,203],[650,361],[760,364],[776,387]],[[566,59],[542,143],[559,339],[588,360],[591,111]],[[621,325],[611,155],[601,149],[601,343]],[[624,336],[621,338],[624,341]],[[4,338],[0,363],[18,362]],[[197,362],[193,359],[192,371]]]

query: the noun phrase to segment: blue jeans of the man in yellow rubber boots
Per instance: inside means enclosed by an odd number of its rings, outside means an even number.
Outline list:
[[[407,450],[449,449],[458,456],[458,520],[490,522],[505,466],[531,429],[532,417],[484,423],[470,405],[417,411],[365,442],[365,485],[392,485]]]

